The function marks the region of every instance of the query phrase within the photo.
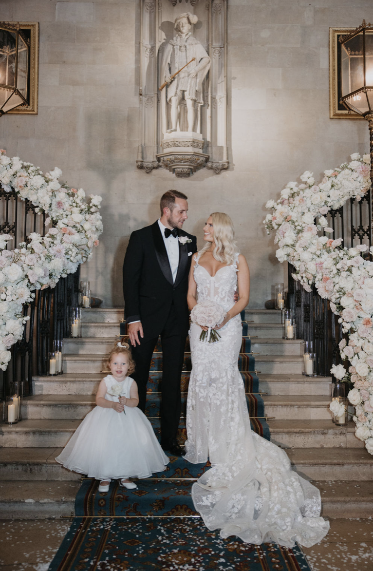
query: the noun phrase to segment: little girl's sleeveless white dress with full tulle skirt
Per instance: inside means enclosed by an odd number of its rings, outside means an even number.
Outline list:
[[[108,391],[117,381],[104,378]],[[133,379],[126,377],[121,394],[130,398]],[[117,396],[105,395],[118,401]],[[97,480],[107,478],[147,478],[161,472],[168,464],[147,417],[137,407],[124,407],[124,412],[96,406],[76,429],[66,447],[56,457],[65,468]]]

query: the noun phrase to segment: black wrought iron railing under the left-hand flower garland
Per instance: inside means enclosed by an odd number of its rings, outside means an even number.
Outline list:
[[[22,200],[16,192],[6,192],[0,186],[0,234],[11,234],[14,240],[9,249],[19,242],[29,242],[30,232],[44,236],[45,215],[38,214],[29,200]],[[35,299],[23,307],[30,317],[23,337],[11,348],[11,360],[0,374],[0,395],[9,394],[13,381],[23,381],[23,396],[33,393],[33,375],[47,373],[48,352],[54,340],[62,341],[70,335],[72,308],[78,306],[80,268],[75,274],[60,279],[55,288],[35,291]]]

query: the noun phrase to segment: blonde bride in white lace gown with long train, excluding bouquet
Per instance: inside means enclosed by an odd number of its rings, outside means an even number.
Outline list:
[[[319,490],[291,470],[286,453],[252,432],[244,383],[238,371],[242,341],[240,312],[249,301],[249,268],[234,243],[232,220],[222,212],[209,216],[206,245],[193,256],[188,305],[213,300],[226,312],[215,327],[215,343],[200,341],[201,327],[189,331],[192,372],[187,403],[185,459],[205,463],[192,487],[194,506],[205,525],[222,537],[242,541],[294,541],[310,547],[321,541],[329,522],[320,517]],[[237,290],[240,299],[234,303]]]

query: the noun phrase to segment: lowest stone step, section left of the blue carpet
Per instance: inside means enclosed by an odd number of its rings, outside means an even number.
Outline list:
[[[1,517],[5,520],[70,516],[80,482],[2,481]]]

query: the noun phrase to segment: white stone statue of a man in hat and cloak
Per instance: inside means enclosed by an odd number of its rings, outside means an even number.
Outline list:
[[[202,82],[210,68],[210,58],[200,42],[192,35],[192,25],[198,18],[185,12],[175,19],[176,36],[165,47],[161,62],[160,79],[168,83],[166,101],[171,106],[171,128],[177,130],[180,118],[180,103],[184,98],[187,104],[188,132],[195,131],[196,110],[203,101]],[[193,58],[194,61],[190,62]],[[190,62],[187,67],[184,67]],[[174,79],[173,74],[184,67]]]

